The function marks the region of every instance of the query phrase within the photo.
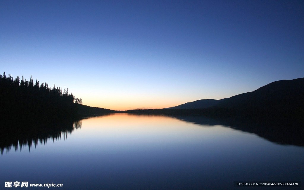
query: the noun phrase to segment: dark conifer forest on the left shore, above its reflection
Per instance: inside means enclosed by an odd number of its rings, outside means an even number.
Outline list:
[[[75,98],[68,88],[33,82],[17,76],[0,74],[0,114],[2,119],[40,120],[74,117],[77,105],[82,104],[81,98]]]

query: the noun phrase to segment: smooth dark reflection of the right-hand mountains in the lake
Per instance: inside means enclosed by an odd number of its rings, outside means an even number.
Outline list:
[[[202,126],[226,126],[235,130],[254,133],[274,143],[304,147],[303,123],[295,123],[290,120],[282,119],[275,121],[269,118],[257,119],[240,117],[219,117],[215,119],[191,115],[175,115],[170,117]]]

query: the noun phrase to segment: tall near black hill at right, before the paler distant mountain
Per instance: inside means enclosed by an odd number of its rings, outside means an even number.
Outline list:
[[[253,92],[232,96],[218,108],[264,113],[296,113],[304,109],[304,78],[275,81]]]

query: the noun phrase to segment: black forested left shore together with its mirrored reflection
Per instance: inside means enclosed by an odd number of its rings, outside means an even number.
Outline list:
[[[63,91],[63,92],[62,92]],[[5,72],[0,74],[0,152],[15,150],[34,142],[61,138],[81,127],[82,117],[113,113],[114,110],[82,105],[68,88],[49,87],[47,83],[15,79]],[[64,137],[64,136],[63,136]]]

